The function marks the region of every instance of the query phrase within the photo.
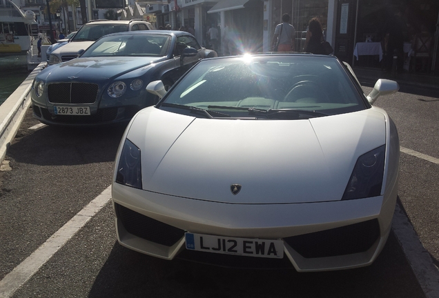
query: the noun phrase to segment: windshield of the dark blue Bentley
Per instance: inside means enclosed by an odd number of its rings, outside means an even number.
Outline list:
[[[99,39],[81,57],[166,56],[169,44],[165,34],[117,34]]]

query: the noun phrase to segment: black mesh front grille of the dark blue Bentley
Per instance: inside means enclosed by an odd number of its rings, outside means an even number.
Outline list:
[[[98,86],[93,83],[52,83],[48,85],[50,103],[94,103]]]

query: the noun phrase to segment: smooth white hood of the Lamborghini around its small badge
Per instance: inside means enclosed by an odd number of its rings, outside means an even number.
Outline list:
[[[146,108],[128,131],[144,190],[224,203],[342,198],[358,157],[386,143],[371,108],[306,120],[202,119]],[[233,194],[233,184],[241,186]]]

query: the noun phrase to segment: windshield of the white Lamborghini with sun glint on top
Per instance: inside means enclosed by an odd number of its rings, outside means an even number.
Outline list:
[[[194,114],[181,108],[188,106],[223,117],[308,119],[369,108],[362,97],[335,57],[244,56],[199,62],[159,107]]]

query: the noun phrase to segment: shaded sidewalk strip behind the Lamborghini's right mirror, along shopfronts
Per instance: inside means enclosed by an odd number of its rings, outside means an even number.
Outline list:
[[[391,79],[397,81],[400,85],[439,89],[438,75],[413,72],[404,72],[402,74],[396,73],[393,75],[389,72],[384,72],[379,68],[364,68],[358,66],[354,66],[353,71],[358,77],[360,83],[364,86],[373,87],[378,79]]]

